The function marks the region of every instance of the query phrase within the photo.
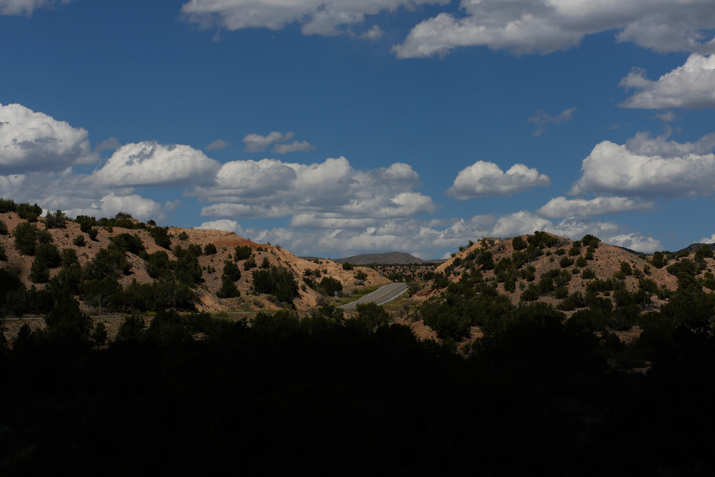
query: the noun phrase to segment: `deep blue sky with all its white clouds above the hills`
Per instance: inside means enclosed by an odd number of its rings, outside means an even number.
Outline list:
[[[0,0],[0,195],[299,255],[715,241],[710,1],[287,3]]]

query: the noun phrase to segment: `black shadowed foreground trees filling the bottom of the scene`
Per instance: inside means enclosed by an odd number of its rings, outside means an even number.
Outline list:
[[[2,473],[709,475],[712,305],[682,282],[632,345],[485,299],[501,313],[468,358],[374,304],[252,323],[162,310],[99,348],[59,300],[2,345]]]

